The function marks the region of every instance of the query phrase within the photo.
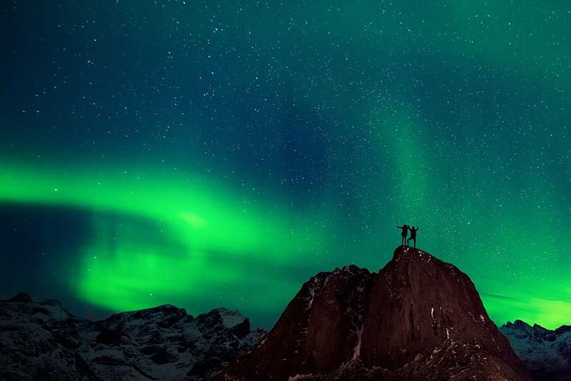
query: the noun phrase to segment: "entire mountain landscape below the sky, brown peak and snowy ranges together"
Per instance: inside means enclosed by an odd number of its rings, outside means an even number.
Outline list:
[[[94,322],[56,300],[27,294],[0,300],[0,380],[571,381],[570,375],[570,326],[552,331],[516,320],[498,330],[468,275],[406,246],[379,273],[350,265],[310,278],[270,332],[251,331],[246,317],[225,308],[195,318],[161,305]]]

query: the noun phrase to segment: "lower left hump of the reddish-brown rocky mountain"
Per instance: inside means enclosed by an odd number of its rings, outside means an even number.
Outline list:
[[[231,365],[228,374],[239,374],[243,380],[287,380],[295,375],[293,370],[331,372],[351,360],[371,280],[368,270],[356,266],[315,275],[256,350]]]

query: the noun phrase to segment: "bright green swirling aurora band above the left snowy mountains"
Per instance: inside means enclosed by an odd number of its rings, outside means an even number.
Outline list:
[[[98,212],[92,216],[93,231],[81,250],[78,268],[69,269],[70,274],[76,274],[69,279],[69,288],[103,308],[134,310],[183,297],[188,303],[188,298],[210,298],[204,292],[213,288],[232,287],[236,292],[245,280],[246,290],[269,282],[285,283],[287,287],[273,290],[272,300],[249,301],[256,308],[268,308],[274,306],[274,300],[287,300],[291,285],[272,278],[275,274],[256,273],[241,257],[256,256],[258,266],[276,270],[300,260],[300,255],[315,250],[318,240],[323,240],[323,233],[295,223],[285,208],[257,207],[255,200],[231,198],[213,185],[177,181],[152,172],[128,175],[109,171],[100,176],[65,172],[58,176],[2,168],[0,198]],[[128,218],[117,224],[108,213],[137,215],[158,229]],[[149,238],[157,234],[160,237]],[[217,259],[216,253],[223,253],[223,260]]]

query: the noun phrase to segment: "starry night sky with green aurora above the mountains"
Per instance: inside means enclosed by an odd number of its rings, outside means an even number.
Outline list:
[[[563,1],[3,1],[0,296],[271,327],[418,247],[571,317]]]

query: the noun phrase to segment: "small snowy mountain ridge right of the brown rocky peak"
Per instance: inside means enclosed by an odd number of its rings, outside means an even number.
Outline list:
[[[500,331],[537,380],[571,381],[571,325],[547,330],[515,320]]]

